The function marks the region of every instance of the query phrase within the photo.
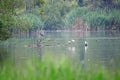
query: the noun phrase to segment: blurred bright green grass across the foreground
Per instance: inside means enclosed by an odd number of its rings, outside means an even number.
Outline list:
[[[13,67],[4,65],[0,69],[0,80],[119,80],[119,70],[109,72],[98,67],[83,70],[79,64],[71,64],[71,61],[63,58],[59,66],[49,57],[42,61],[26,62],[24,66]]]

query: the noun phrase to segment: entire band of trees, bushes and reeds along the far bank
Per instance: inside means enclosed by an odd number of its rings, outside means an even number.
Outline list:
[[[15,29],[120,30],[119,8],[120,0],[0,0],[0,40]]]

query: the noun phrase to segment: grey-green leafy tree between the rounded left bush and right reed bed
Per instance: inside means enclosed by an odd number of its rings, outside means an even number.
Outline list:
[[[64,16],[76,6],[76,1],[46,0],[44,10],[44,29],[64,29]]]

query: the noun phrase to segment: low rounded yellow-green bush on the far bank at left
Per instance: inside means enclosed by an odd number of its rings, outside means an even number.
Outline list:
[[[39,16],[31,13],[24,13],[14,16],[14,26],[18,29],[42,28],[43,24]]]

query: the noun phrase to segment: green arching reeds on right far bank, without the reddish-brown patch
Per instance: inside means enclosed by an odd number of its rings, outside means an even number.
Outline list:
[[[66,16],[66,26],[70,26],[74,23],[77,17],[81,18],[83,21],[87,21],[90,28],[105,29],[106,26],[117,26],[119,28],[120,23],[120,11],[117,9],[107,10],[107,9],[96,9],[90,10],[87,7],[78,7],[72,10]]]

